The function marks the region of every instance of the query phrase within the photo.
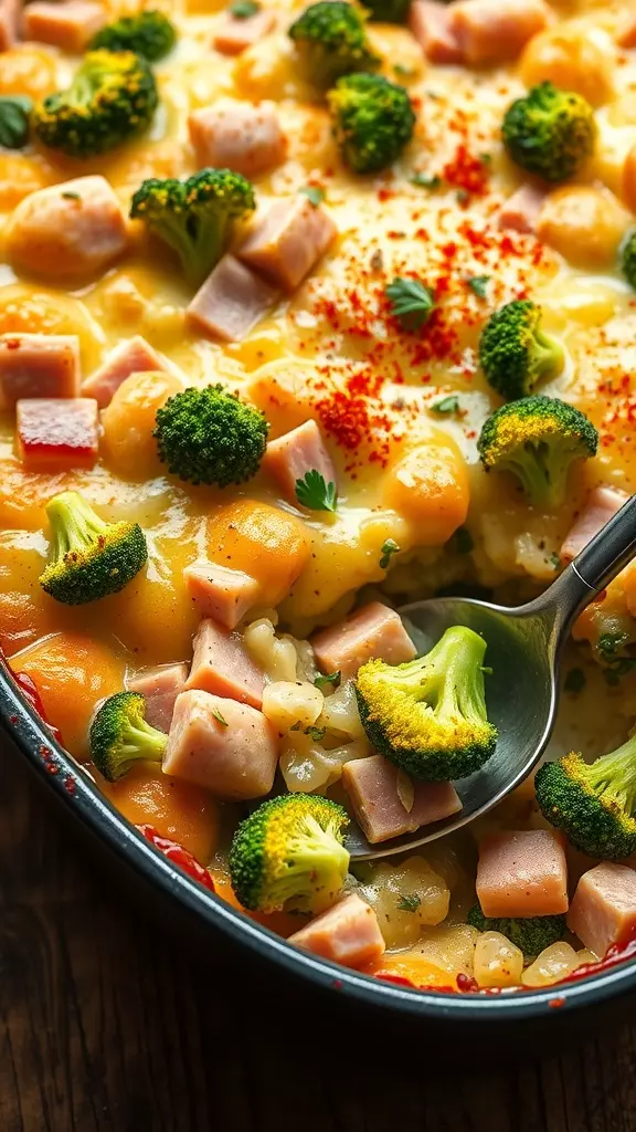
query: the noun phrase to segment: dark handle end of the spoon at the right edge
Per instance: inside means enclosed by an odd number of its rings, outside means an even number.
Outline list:
[[[636,555],[636,496],[583,548],[544,594],[569,624]]]

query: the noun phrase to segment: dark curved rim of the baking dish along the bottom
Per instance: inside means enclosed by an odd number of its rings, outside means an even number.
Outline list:
[[[488,1021],[553,1018],[555,1009],[581,1009],[636,989],[636,961],[626,960],[607,972],[575,983],[514,994],[485,995],[478,992],[450,994],[419,990],[376,979],[340,967],[294,947],[221,897],[207,891],[162,856],[134,825],[114,808],[81,765],[54,740],[46,724],[23,698],[6,661],[0,658],[0,730],[48,782],[67,809],[129,868],[141,874],[163,895],[177,900],[204,925],[221,931],[259,959],[276,964],[292,976],[307,979],[329,993],[344,994],[368,1006],[398,1011],[431,1021]]]

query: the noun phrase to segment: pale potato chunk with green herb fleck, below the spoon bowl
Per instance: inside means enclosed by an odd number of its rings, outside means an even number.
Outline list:
[[[387,947],[413,945],[423,928],[441,924],[448,915],[448,885],[424,857],[378,865],[361,891],[376,909]]]

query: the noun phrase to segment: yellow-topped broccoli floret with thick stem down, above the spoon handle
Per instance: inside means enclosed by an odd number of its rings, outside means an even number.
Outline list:
[[[512,472],[536,507],[564,501],[570,464],[596,454],[592,421],[558,397],[523,397],[501,405],[478,440],[487,472]]]

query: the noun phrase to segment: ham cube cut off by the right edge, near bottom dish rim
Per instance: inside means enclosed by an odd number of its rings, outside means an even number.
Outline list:
[[[604,860],[581,877],[567,924],[599,959],[614,943],[626,943],[636,929],[636,873]]]

